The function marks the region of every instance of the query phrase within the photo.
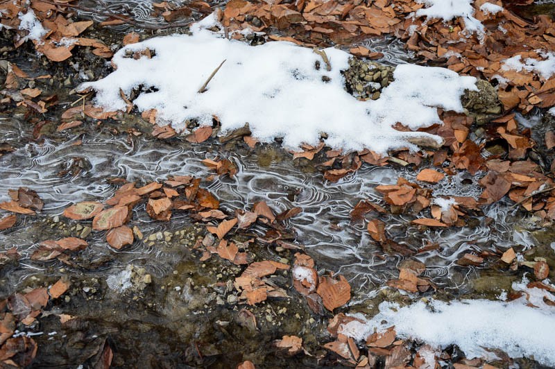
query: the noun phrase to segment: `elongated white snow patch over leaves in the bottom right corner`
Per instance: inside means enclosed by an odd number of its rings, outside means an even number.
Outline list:
[[[488,356],[484,348],[503,350],[510,357],[533,357],[546,366],[555,366],[555,307],[543,302],[549,292],[526,287],[527,281],[513,284],[524,297],[513,302],[462,300],[422,301],[407,307],[383,302],[379,314],[366,324],[353,321],[339,332],[352,338],[366,339],[374,329],[395,325],[398,336],[416,338],[432,346],[456,344],[468,358]],[[528,307],[530,302],[538,308]]]

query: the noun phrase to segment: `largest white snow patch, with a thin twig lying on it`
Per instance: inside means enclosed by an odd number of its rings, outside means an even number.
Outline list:
[[[370,148],[385,153],[390,148],[416,147],[409,137],[436,136],[393,129],[400,122],[415,130],[441,123],[436,108],[462,112],[460,96],[465,89],[477,90],[475,78],[459,76],[438,67],[400,65],[395,80],[377,101],[358,101],[343,89],[341,70],[348,69],[350,54],[325,49],[332,70],[327,71],[320,55],[289,42],[267,42],[248,46],[226,40],[200,26],[193,35],[155,37],[119,50],[112,60],[117,70],[80,90],[95,89],[97,105],[105,110],[124,110],[120,89],[125,94],[144,85],[157,92],[142,93],[134,103],[139,111],[156,109],[157,122],[185,130],[187,119],[212,125],[221,121],[223,133],[248,122],[253,136],[270,142],[283,137],[287,148],[319,143],[321,133],[335,148]],[[139,60],[126,53],[154,50],[156,55]],[[207,77],[223,61],[210,80],[207,91],[198,93]],[[314,65],[320,62],[316,70]],[[323,76],[331,78],[326,83]]]

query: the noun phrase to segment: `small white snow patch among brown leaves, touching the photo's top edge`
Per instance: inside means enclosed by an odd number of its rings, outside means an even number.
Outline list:
[[[416,17],[443,19],[448,22],[456,17],[461,17],[464,27],[469,33],[484,34],[484,25],[474,17],[473,0],[416,0],[427,8],[416,10]]]

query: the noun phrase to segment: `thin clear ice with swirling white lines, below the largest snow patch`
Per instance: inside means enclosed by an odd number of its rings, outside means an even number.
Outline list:
[[[382,167],[364,166],[355,175],[343,178],[339,183],[327,182],[311,163],[304,159],[291,160],[291,155],[274,146],[257,146],[255,153],[246,146],[226,148],[224,145],[167,144],[162,140],[135,137],[133,142],[126,137],[108,136],[98,133],[85,137],[67,136],[67,141],[45,139],[37,144],[30,140],[26,126],[13,119],[0,120],[0,129],[5,132],[6,142],[17,147],[17,151],[0,157],[3,170],[0,173],[0,200],[8,200],[8,189],[29,187],[37,191],[44,200],[41,214],[60,216],[63,209],[83,200],[105,200],[110,198],[117,186],[109,184],[110,178],[125,178],[128,181],[152,182],[164,180],[169,175],[195,175],[206,178],[212,174],[201,160],[214,159],[216,155],[226,157],[237,166],[234,178],[216,176],[207,186],[221,202],[223,209],[250,209],[253,203],[264,200],[280,213],[291,207],[302,208],[287,222],[296,232],[298,243],[307,248],[317,264],[331,271],[341,272],[350,280],[357,280],[361,295],[372,295],[398,273],[395,266],[402,261],[396,255],[386,256],[370,238],[366,222],[353,223],[350,212],[359,200],[371,200],[384,205],[382,195],[375,191],[379,184],[395,184],[399,176],[414,180],[415,173]],[[81,138],[82,137],[82,138]],[[78,139],[83,143],[76,144]],[[74,171],[72,176],[67,172]],[[453,182],[440,182],[436,194],[472,196],[479,194],[478,178],[456,177]],[[455,261],[466,252],[493,250],[495,246],[508,248],[515,243],[530,246],[533,241],[527,232],[514,229],[509,207],[492,205],[485,219],[465,228],[449,228],[420,233],[416,225],[409,225],[404,216],[388,215],[384,219],[387,232],[393,241],[417,249],[428,243],[438,243],[438,250],[422,252],[416,259],[427,265],[425,276],[431,277],[438,286],[464,293],[469,291],[471,280],[477,275],[475,268],[457,266]],[[144,205],[133,219],[137,219],[143,234],[171,230],[189,222],[186,212],[177,212],[170,222],[152,221],[144,213]],[[26,217],[26,222],[40,221],[41,216]],[[488,225],[485,225],[488,223]],[[28,239],[27,223],[2,232],[3,248],[17,246],[20,252],[33,249],[36,241]],[[262,235],[262,230],[259,232]],[[92,246],[83,252],[96,255],[112,254],[103,237],[93,233]],[[162,276],[169,273],[171,263],[160,257],[157,248],[142,242],[123,252],[126,260],[146,259],[151,273]],[[168,256],[171,259],[171,256]],[[10,275],[12,282],[24,278],[27,273],[42,268],[41,264],[22,259],[28,270]],[[122,264],[125,265],[125,264]],[[114,267],[116,265],[112,265]],[[6,288],[6,286],[4,287]],[[10,286],[17,289],[17,283]],[[7,291],[6,291],[7,292]]]

